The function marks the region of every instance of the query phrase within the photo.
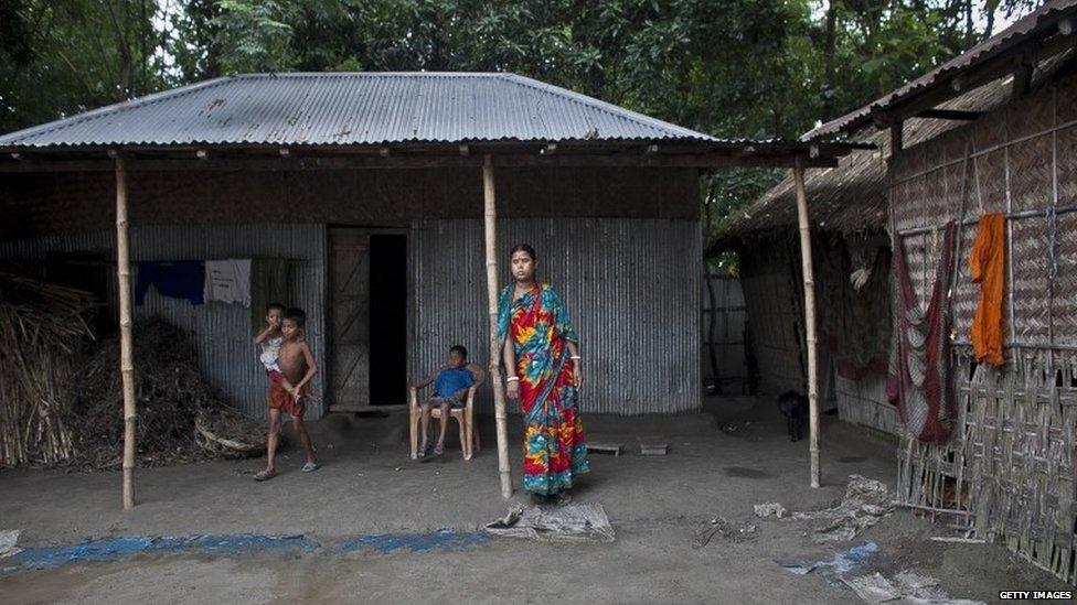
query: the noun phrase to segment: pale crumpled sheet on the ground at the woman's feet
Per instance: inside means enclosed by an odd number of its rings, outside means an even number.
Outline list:
[[[601,505],[515,506],[503,518],[488,523],[486,530],[493,536],[551,542],[612,542],[615,539]]]

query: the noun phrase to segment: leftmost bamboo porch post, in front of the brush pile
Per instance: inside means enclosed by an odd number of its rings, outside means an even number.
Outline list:
[[[119,282],[119,368],[124,386],[124,509],[135,508],[135,361],[131,346],[131,256],[127,172],[116,159],[116,278]]]

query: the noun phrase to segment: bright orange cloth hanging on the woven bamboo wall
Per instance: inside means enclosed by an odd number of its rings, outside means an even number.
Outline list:
[[[1006,215],[985,214],[969,253],[972,282],[980,284],[980,304],[972,318],[972,352],[977,361],[1001,366],[1003,296],[1006,274]]]

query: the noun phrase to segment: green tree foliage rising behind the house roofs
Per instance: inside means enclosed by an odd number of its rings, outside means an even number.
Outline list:
[[[1037,0],[0,0],[0,131],[228,73],[514,72],[722,138],[792,138]],[[777,171],[702,183],[708,228]]]

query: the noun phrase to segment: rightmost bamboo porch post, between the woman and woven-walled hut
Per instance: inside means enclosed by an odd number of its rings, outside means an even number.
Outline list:
[[[800,263],[804,276],[804,341],[808,347],[808,429],[811,456],[811,486],[819,487],[819,368],[815,359],[815,284],[811,271],[811,224],[808,222],[808,192],[804,188],[804,161],[797,156],[792,169],[797,182],[797,223],[800,227]]]

